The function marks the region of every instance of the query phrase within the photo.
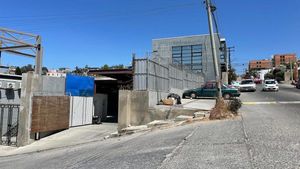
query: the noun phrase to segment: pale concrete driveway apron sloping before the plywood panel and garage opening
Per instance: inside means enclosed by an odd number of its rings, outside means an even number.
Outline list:
[[[24,147],[0,146],[0,157],[101,141],[104,140],[106,136],[116,132],[118,127],[117,125],[117,123],[103,123],[100,125],[73,127],[42,138],[41,140],[35,141],[34,143]]]

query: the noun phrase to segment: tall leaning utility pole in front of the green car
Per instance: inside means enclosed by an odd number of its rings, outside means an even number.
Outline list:
[[[205,1],[206,1],[209,33],[210,33],[211,50],[212,50],[212,55],[213,55],[215,75],[216,75],[216,81],[217,81],[217,98],[220,99],[222,97],[221,81],[220,81],[220,66],[218,64],[216,43],[215,43],[215,38],[214,38],[213,19],[212,19],[212,12],[216,10],[216,7],[211,4],[210,0],[205,0]]]

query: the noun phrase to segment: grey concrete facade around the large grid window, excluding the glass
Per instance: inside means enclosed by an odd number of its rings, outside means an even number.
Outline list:
[[[215,35],[216,42],[219,42],[218,37]],[[152,50],[154,60],[159,63],[168,64],[172,63],[172,47],[173,46],[185,46],[185,45],[202,45],[202,66],[203,74],[205,75],[205,81],[215,80],[215,71],[213,64],[213,57],[210,45],[209,35],[194,35],[183,36],[174,38],[162,38],[154,39],[152,41]],[[220,56],[220,44],[216,43],[217,56]],[[220,57],[218,57],[218,62]]]

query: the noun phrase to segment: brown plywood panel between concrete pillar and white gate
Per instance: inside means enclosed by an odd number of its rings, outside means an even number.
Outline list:
[[[31,132],[67,129],[69,113],[68,96],[33,96]]]

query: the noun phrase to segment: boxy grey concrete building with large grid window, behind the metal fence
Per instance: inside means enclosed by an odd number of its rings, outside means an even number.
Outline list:
[[[222,65],[227,67],[226,41],[219,39],[217,34],[214,38],[217,42],[217,62],[221,71]],[[186,70],[203,73],[205,81],[216,79],[209,35],[154,39],[152,49],[153,59],[161,64],[173,63]]]

